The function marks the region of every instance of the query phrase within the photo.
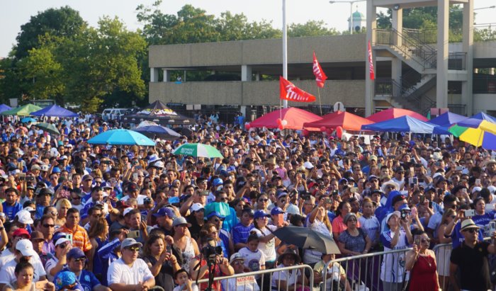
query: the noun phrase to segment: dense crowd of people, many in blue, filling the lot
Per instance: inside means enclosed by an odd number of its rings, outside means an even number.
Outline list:
[[[449,137],[340,139],[210,118],[191,136],[118,147],[87,143],[129,126],[118,120],[52,122],[61,135],[16,118],[1,124],[3,290],[205,290],[196,280],[298,264],[327,290],[492,288],[496,247],[483,239],[496,230],[494,152]],[[172,153],[186,142],[224,158]],[[274,232],[288,225],[327,236],[341,253],[281,241]],[[432,251],[450,243],[453,251]],[[351,261],[356,268],[329,263],[410,248]],[[311,290],[309,275],[247,274],[212,290]]]

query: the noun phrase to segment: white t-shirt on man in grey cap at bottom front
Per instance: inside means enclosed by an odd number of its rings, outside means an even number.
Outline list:
[[[109,286],[113,283],[136,285],[151,278],[154,278],[152,272],[141,258],[137,258],[132,267],[126,265],[123,258],[113,261],[108,267],[107,282]]]

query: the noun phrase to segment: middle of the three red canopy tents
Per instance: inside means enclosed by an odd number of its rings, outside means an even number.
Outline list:
[[[322,116],[321,120],[314,122],[305,122],[305,128],[312,127],[318,128],[336,128],[342,127],[344,130],[361,130],[361,125],[369,125],[373,123],[371,120],[361,118],[358,115],[346,111],[336,111]],[[322,131],[322,130],[321,130]]]

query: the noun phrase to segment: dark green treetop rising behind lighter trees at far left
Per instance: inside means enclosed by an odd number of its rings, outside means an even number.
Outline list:
[[[38,38],[49,33],[54,36],[69,37],[79,32],[84,21],[79,12],[64,6],[50,8],[31,16],[30,21],[21,25],[21,33],[17,36],[15,56],[22,59],[28,56],[28,51],[40,44]]]

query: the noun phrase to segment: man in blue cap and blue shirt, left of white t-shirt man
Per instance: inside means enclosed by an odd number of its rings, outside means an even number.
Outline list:
[[[81,249],[73,248],[67,253],[67,266],[63,270],[74,273],[84,291],[111,291],[110,288],[101,285],[94,273],[84,270],[86,261],[84,252]]]

